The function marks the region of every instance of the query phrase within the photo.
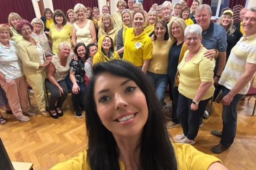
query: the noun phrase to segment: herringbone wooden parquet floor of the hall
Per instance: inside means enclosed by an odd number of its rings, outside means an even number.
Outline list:
[[[31,98],[33,96],[30,95]],[[168,97],[166,97],[167,99]],[[221,159],[230,170],[256,170],[256,116],[250,116],[255,99],[240,103],[238,128],[234,144],[219,155],[210,152],[211,147],[219,143],[212,136],[212,129],[221,130],[221,104],[214,105],[209,119],[204,120],[196,138],[195,147]],[[31,110],[37,111],[32,99]],[[87,146],[85,119],[74,116],[69,94],[64,103],[64,116],[59,119],[32,116],[30,122],[18,122],[13,115],[6,114],[1,108],[5,125],[0,125],[0,137],[12,161],[32,162],[34,170],[48,170],[58,162],[77,156]],[[175,136],[182,133],[180,125],[169,132]],[[100,135],[100,134],[99,134]]]

